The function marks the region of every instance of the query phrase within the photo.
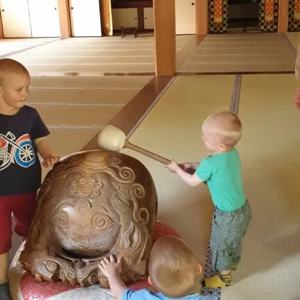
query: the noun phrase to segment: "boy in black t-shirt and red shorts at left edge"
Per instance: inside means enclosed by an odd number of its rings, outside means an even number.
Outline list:
[[[58,161],[45,140],[49,135],[38,112],[25,106],[30,84],[27,69],[15,60],[0,60],[0,299],[10,299],[8,251],[13,213],[15,232],[26,238],[41,185],[42,165]]]

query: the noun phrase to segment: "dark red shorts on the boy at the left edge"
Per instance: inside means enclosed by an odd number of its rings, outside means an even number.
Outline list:
[[[0,197],[0,254],[12,247],[12,213],[15,217],[15,233],[26,238],[35,213],[37,193]]]

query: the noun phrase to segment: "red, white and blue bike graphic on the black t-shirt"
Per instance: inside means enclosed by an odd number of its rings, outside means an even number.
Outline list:
[[[20,167],[30,167],[35,163],[35,151],[28,134],[16,140],[15,135],[10,131],[6,135],[0,133],[0,171],[6,169],[11,163],[17,163]]]

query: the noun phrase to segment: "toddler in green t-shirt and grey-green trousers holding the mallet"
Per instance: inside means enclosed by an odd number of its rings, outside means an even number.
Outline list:
[[[185,183],[196,186],[206,182],[215,213],[210,248],[212,269],[217,275],[206,278],[210,288],[232,285],[231,271],[238,269],[242,238],[250,222],[251,210],[242,185],[241,162],[235,145],[242,136],[242,124],[235,113],[223,111],[210,115],[202,126],[203,141],[212,155],[201,163],[185,163],[183,169],[172,161],[167,165]],[[185,169],[195,169],[193,175]]]

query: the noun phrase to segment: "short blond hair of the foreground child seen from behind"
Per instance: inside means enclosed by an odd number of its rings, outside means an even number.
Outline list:
[[[174,236],[160,238],[151,250],[149,277],[166,297],[181,298],[197,286],[197,260],[183,240]]]

